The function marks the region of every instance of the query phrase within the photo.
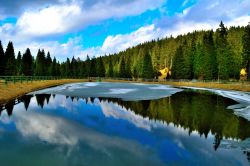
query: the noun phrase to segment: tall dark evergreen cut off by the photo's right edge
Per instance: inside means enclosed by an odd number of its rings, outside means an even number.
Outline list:
[[[242,39],[243,44],[243,68],[247,69],[247,78],[250,78],[250,22],[245,28],[244,36]]]

